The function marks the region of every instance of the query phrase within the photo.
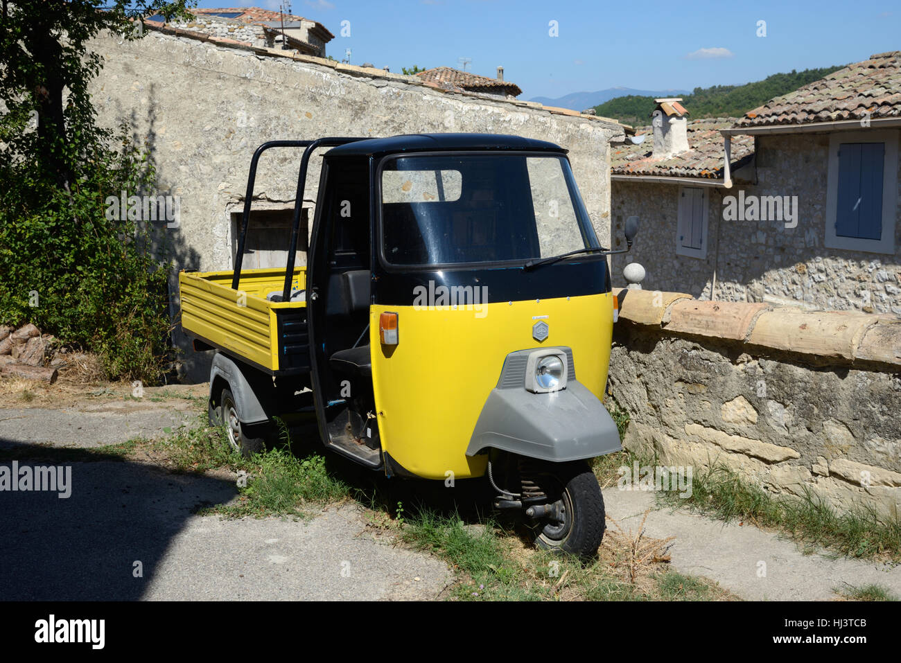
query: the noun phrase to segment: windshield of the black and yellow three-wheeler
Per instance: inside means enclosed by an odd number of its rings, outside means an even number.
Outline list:
[[[395,265],[550,258],[597,247],[569,161],[526,154],[390,159],[382,241]]]

